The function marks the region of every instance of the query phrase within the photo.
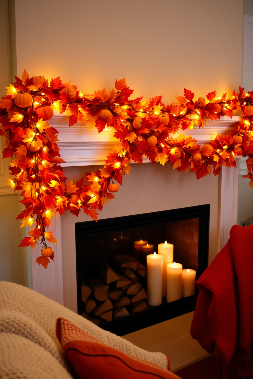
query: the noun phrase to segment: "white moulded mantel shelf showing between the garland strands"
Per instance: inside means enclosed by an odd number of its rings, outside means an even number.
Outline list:
[[[223,136],[230,133],[234,129],[234,124],[239,121],[239,116],[233,116],[232,119],[221,116],[217,121],[207,120],[204,129],[196,125],[193,130],[187,129],[182,133],[191,135],[200,144],[205,144],[214,141],[217,133]],[[102,133],[98,133],[96,128],[89,131],[81,122],[69,127],[68,116],[56,111],[49,123],[59,132],[58,146],[61,149],[61,158],[66,161],[62,164],[63,167],[104,164],[108,152],[113,147],[120,146],[120,141],[113,137],[113,129],[105,129]],[[149,160],[144,158],[143,162]]]

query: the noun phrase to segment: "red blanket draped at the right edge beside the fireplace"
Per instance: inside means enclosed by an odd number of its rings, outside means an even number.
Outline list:
[[[191,335],[210,354],[217,378],[231,367],[253,376],[253,225],[234,225],[230,239],[196,282]]]

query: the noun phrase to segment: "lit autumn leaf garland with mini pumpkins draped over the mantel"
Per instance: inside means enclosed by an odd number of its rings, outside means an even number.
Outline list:
[[[162,96],[149,102],[142,97],[130,100],[133,90],[125,79],[116,80],[115,88],[109,93],[105,89],[93,95],[82,94],[75,85],[62,83],[60,78],[51,79],[35,76],[29,78],[24,70],[21,79],[7,88],[6,96],[0,101],[0,135],[5,136],[3,158],[15,158],[9,167],[13,179],[8,185],[21,191],[24,204],[17,219],[22,227],[35,222],[20,246],[35,247],[42,244],[41,256],[36,262],[47,268],[54,253],[46,241],[57,243],[52,232],[46,232],[53,210],[63,214],[70,210],[78,216],[81,208],[86,215],[97,219],[96,210],[102,210],[105,203],[113,199],[113,192],[122,185],[123,175],[130,171],[129,163],[142,163],[143,156],[155,164],[170,162],[178,171],[193,171],[197,179],[211,174],[217,175],[222,166],[235,167],[236,155],[248,157],[248,174],[253,187],[253,91],[226,93],[217,97],[215,91],[206,95],[207,101],[199,97],[193,101],[194,92],[184,88],[184,96],[176,97],[177,103],[165,106]],[[47,120],[53,110],[60,113],[69,110],[69,126],[81,121],[89,130],[96,127],[101,133],[105,127],[115,130],[121,147],[108,153],[105,165],[96,172],[86,173],[76,184],[67,178],[61,168],[64,161],[57,146],[57,130]],[[201,146],[191,136],[178,133],[192,130],[194,125],[206,125],[206,119],[216,120],[220,116],[231,117],[241,112],[242,121],[235,124],[234,131],[225,137],[217,134],[215,141]]]

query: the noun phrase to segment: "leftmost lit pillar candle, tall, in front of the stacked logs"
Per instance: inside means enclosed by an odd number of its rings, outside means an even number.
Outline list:
[[[149,305],[162,304],[162,255],[147,255],[147,303]]]

